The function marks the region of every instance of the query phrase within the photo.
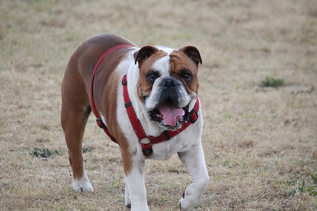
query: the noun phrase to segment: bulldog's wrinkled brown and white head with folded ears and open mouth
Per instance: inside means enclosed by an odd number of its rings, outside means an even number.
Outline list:
[[[139,65],[137,93],[151,120],[166,130],[176,130],[189,116],[189,105],[198,94],[199,51],[145,46],[134,54]]]

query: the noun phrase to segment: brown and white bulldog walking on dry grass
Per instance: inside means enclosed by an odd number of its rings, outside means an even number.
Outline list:
[[[107,51],[110,52],[102,59]],[[93,192],[84,167],[82,139],[87,119],[95,110],[105,131],[120,146],[125,205],[134,211],[149,210],[144,184],[145,159],[165,160],[177,153],[193,178],[180,199],[180,209],[194,209],[209,183],[201,143],[203,117],[197,96],[199,63],[202,59],[195,47],[140,49],[112,34],[91,37],[75,50],[62,82],[61,125],[76,192]],[[131,123],[133,117],[128,114],[123,98],[124,75],[138,126]],[[197,121],[187,124],[192,113],[196,113]],[[146,137],[139,140],[135,127],[142,128]],[[167,141],[151,142],[152,137],[161,134],[170,137]]]

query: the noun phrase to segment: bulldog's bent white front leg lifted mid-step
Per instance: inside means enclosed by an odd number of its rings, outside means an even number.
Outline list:
[[[188,151],[178,153],[178,157],[193,179],[193,183],[183,194],[179,206],[181,211],[191,211],[201,199],[209,183],[202,144],[194,145]]]

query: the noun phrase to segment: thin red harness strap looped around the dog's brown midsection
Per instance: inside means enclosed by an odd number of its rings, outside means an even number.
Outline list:
[[[105,123],[101,120],[99,113],[96,109],[95,106],[95,102],[94,102],[94,92],[93,92],[93,84],[94,84],[94,78],[95,78],[95,73],[97,68],[99,67],[100,63],[103,61],[103,59],[111,52],[118,50],[118,49],[122,49],[122,48],[129,48],[129,47],[135,47],[133,45],[129,45],[129,44],[124,44],[124,45],[119,45],[119,46],[114,46],[112,48],[110,48],[109,50],[107,50],[97,61],[94,71],[93,71],[93,75],[92,75],[92,79],[91,79],[91,88],[90,88],[90,96],[91,96],[91,108],[96,116],[96,121],[97,124],[100,128],[104,129],[104,131],[106,132],[107,136],[109,136],[109,138],[111,139],[111,141],[113,141],[114,143],[118,143],[115,138],[111,135],[110,131],[108,130],[108,128],[106,127]]]

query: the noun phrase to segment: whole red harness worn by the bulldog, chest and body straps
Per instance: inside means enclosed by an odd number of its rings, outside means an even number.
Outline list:
[[[107,129],[106,125],[103,123],[103,121],[101,120],[96,106],[94,104],[94,98],[93,98],[93,82],[94,82],[94,76],[95,76],[95,72],[99,66],[99,64],[101,63],[101,61],[106,57],[107,54],[117,50],[117,49],[121,49],[121,48],[128,48],[128,47],[134,47],[131,45],[121,45],[121,46],[115,46],[111,49],[109,49],[106,53],[104,53],[100,59],[98,60],[95,68],[94,68],[94,72],[93,72],[93,76],[92,76],[92,82],[91,82],[91,104],[92,104],[92,109],[95,113],[95,116],[97,117],[96,121],[97,124],[100,128],[104,129],[104,131],[106,132],[107,136],[109,136],[109,138],[117,143],[117,141],[115,140],[115,138],[110,134],[109,130]],[[195,123],[198,119],[198,110],[199,110],[199,100],[197,98],[196,104],[194,106],[194,109],[190,112],[189,114],[189,121],[187,122],[183,122],[182,123],[182,127],[175,130],[175,131],[170,131],[170,130],[165,130],[164,132],[162,132],[159,136],[148,136],[145,134],[144,129],[142,127],[142,124],[140,122],[140,120],[137,118],[137,115],[133,109],[132,103],[130,101],[129,98],[129,94],[128,94],[128,85],[127,85],[127,76],[125,75],[122,78],[122,85],[123,85],[123,98],[124,98],[124,106],[127,110],[131,125],[134,129],[135,134],[137,135],[139,141],[141,141],[144,138],[148,138],[150,140],[149,144],[143,144],[142,145],[142,152],[144,156],[150,156],[153,153],[153,149],[152,149],[152,145],[153,144],[158,144],[160,142],[164,142],[167,141],[169,139],[171,139],[172,137],[176,136],[178,133],[182,132],[183,130],[185,130],[191,123]]]

